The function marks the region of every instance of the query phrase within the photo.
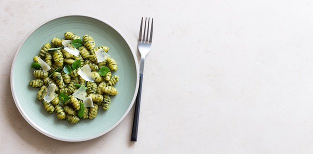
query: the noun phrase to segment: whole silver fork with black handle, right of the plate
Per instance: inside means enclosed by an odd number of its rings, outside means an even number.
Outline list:
[[[135,111],[134,111],[135,113],[133,116],[130,141],[137,141],[144,58],[148,54],[148,52],[150,51],[151,43],[152,43],[153,18],[151,19],[150,37],[149,37],[150,18],[148,18],[147,28],[146,28],[146,17],[145,17],[145,21],[144,21],[144,29],[142,29],[142,21],[143,21],[143,17],[141,17],[139,39],[138,39],[138,50],[139,50],[140,55],[141,55],[140,68],[139,68],[139,88],[138,88],[138,93],[137,93],[136,102],[135,102]],[[143,30],[143,36],[141,37],[142,30]]]

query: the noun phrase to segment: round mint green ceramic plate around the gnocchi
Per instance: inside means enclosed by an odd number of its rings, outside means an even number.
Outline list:
[[[94,119],[81,119],[77,124],[69,124],[66,120],[57,119],[54,113],[46,113],[36,99],[38,88],[29,86],[29,81],[34,79],[33,69],[30,68],[32,58],[39,54],[43,44],[53,37],[63,38],[66,31],[80,37],[89,34],[95,46],[108,46],[108,54],[118,65],[118,70],[113,72],[113,75],[119,76],[114,86],[118,94],[111,97],[109,110],[99,108]],[[137,94],[138,75],[135,53],[114,26],[96,17],[66,15],[38,26],[23,40],[13,59],[10,84],[18,111],[34,129],[56,140],[80,142],[104,135],[124,119]]]

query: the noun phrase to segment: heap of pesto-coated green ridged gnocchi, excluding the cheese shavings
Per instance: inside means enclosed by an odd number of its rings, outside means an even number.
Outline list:
[[[117,71],[117,63],[112,57],[107,57],[101,62],[97,61],[95,52],[98,49],[108,52],[109,48],[103,45],[96,47],[95,41],[90,35],[82,36],[81,45],[76,48],[79,51],[78,55],[71,54],[63,47],[62,41],[77,39],[80,40],[79,35],[68,31],[64,33],[64,37],[53,37],[50,42],[43,44],[32,62],[38,63],[41,58],[50,66],[50,70],[44,72],[41,67],[34,68],[34,79],[28,83],[30,87],[38,88],[36,99],[41,101],[45,112],[55,113],[57,119],[68,121],[70,124],[76,124],[80,119],[94,119],[100,107],[103,111],[108,110],[111,97],[117,95],[114,85],[119,80],[117,75],[113,75],[113,72]],[[74,45],[71,46],[74,47]],[[78,60],[80,66],[74,68],[72,64]],[[70,72],[64,71],[64,69],[68,69],[66,65],[73,69]],[[90,67],[92,81],[86,81],[78,74],[84,65]],[[107,67],[108,72],[100,75],[101,67]],[[54,95],[49,101],[46,101],[45,96],[50,95],[48,87],[51,84],[55,85]],[[85,97],[91,98],[93,107],[81,106],[83,100],[72,95],[79,86],[86,87]],[[64,100],[64,95],[68,96],[67,100]]]

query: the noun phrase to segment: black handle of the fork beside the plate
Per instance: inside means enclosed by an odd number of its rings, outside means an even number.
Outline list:
[[[131,131],[131,139],[130,139],[130,141],[137,141],[142,77],[143,77],[143,73],[140,73],[139,74],[139,89],[138,89],[136,102],[135,102],[135,113],[133,115],[133,123],[132,123],[132,131]]]

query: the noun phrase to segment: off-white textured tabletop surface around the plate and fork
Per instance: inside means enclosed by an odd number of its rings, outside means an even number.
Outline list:
[[[311,0],[0,0],[0,153],[312,153],[312,8]],[[34,27],[68,13],[112,23],[134,49],[141,16],[153,17],[137,142],[133,110],[80,143],[50,139],[18,113],[13,56]]]

